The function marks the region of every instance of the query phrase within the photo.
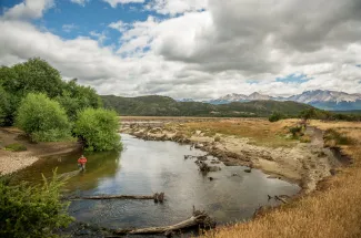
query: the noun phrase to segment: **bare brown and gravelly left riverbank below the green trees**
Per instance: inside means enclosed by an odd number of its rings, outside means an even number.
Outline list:
[[[10,152],[4,147],[10,144],[21,144],[27,151]],[[0,128],[0,174],[11,174],[26,168],[42,157],[67,154],[81,149],[77,142],[53,142],[32,144],[23,136],[23,132],[16,127]]]

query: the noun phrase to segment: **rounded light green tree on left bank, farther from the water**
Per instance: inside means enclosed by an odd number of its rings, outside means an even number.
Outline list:
[[[21,102],[17,123],[36,142],[69,139],[70,123],[60,104],[40,93],[29,93]]]

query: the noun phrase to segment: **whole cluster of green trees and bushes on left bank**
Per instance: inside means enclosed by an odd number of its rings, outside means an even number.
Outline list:
[[[79,138],[87,151],[120,149],[117,113],[77,79],[39,58],[0,68],[0,126],[18,126],[33,142]]]

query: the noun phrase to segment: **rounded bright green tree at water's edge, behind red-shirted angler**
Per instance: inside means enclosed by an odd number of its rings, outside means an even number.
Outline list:
[[[121,149],[119,118],[114,111],[86,108],[78,113],[73,128],[82,139],[87,151]]]

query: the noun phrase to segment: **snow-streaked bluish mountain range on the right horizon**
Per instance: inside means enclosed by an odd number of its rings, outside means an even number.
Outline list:
[[[338,91],[305,91],[298,95],[288,97],[270,96],[260,93],[252,93],[250,95],[244,94],[228,94],[217,100],[207,101],[211,104],[228,104],[231,102],[250,102],[259,100],[272,100],[272,101],[293,101],[299,103],[310,104],[314,107],[328,111],[352,111],[361,110],[361,93],[349,94]],[[188,99],[189,101],[189,99]]]

